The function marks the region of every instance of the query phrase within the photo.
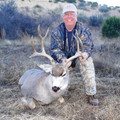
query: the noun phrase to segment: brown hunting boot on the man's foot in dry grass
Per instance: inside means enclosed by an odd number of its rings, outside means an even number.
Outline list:
[[[88,103],[92,106],[99,106],[99,101],[95,95],[87,95],[88,96]]]

